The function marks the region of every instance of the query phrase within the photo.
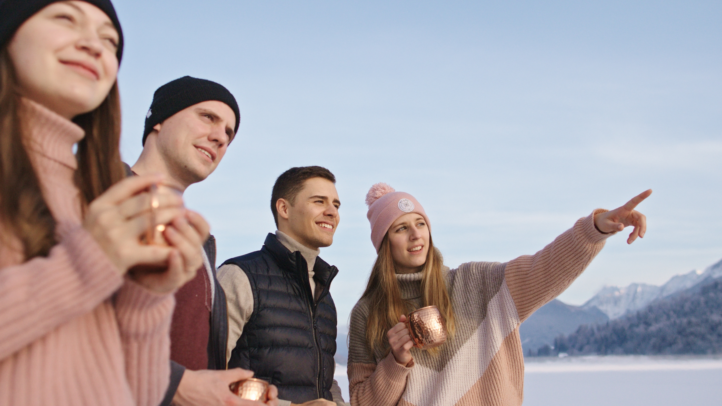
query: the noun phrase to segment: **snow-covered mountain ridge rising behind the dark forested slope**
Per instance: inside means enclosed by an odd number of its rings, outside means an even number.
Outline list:
[[[681,290],[691,288],[708,278],[722,277],[722,259],[704,271],[690,271],[671,277],[664,285],[632,283],[625,288],[605,286],[584,303],[581,308],[599,308],[609,319],[617,319],[628,312],[638,311],[657,299],[665,298]]]

